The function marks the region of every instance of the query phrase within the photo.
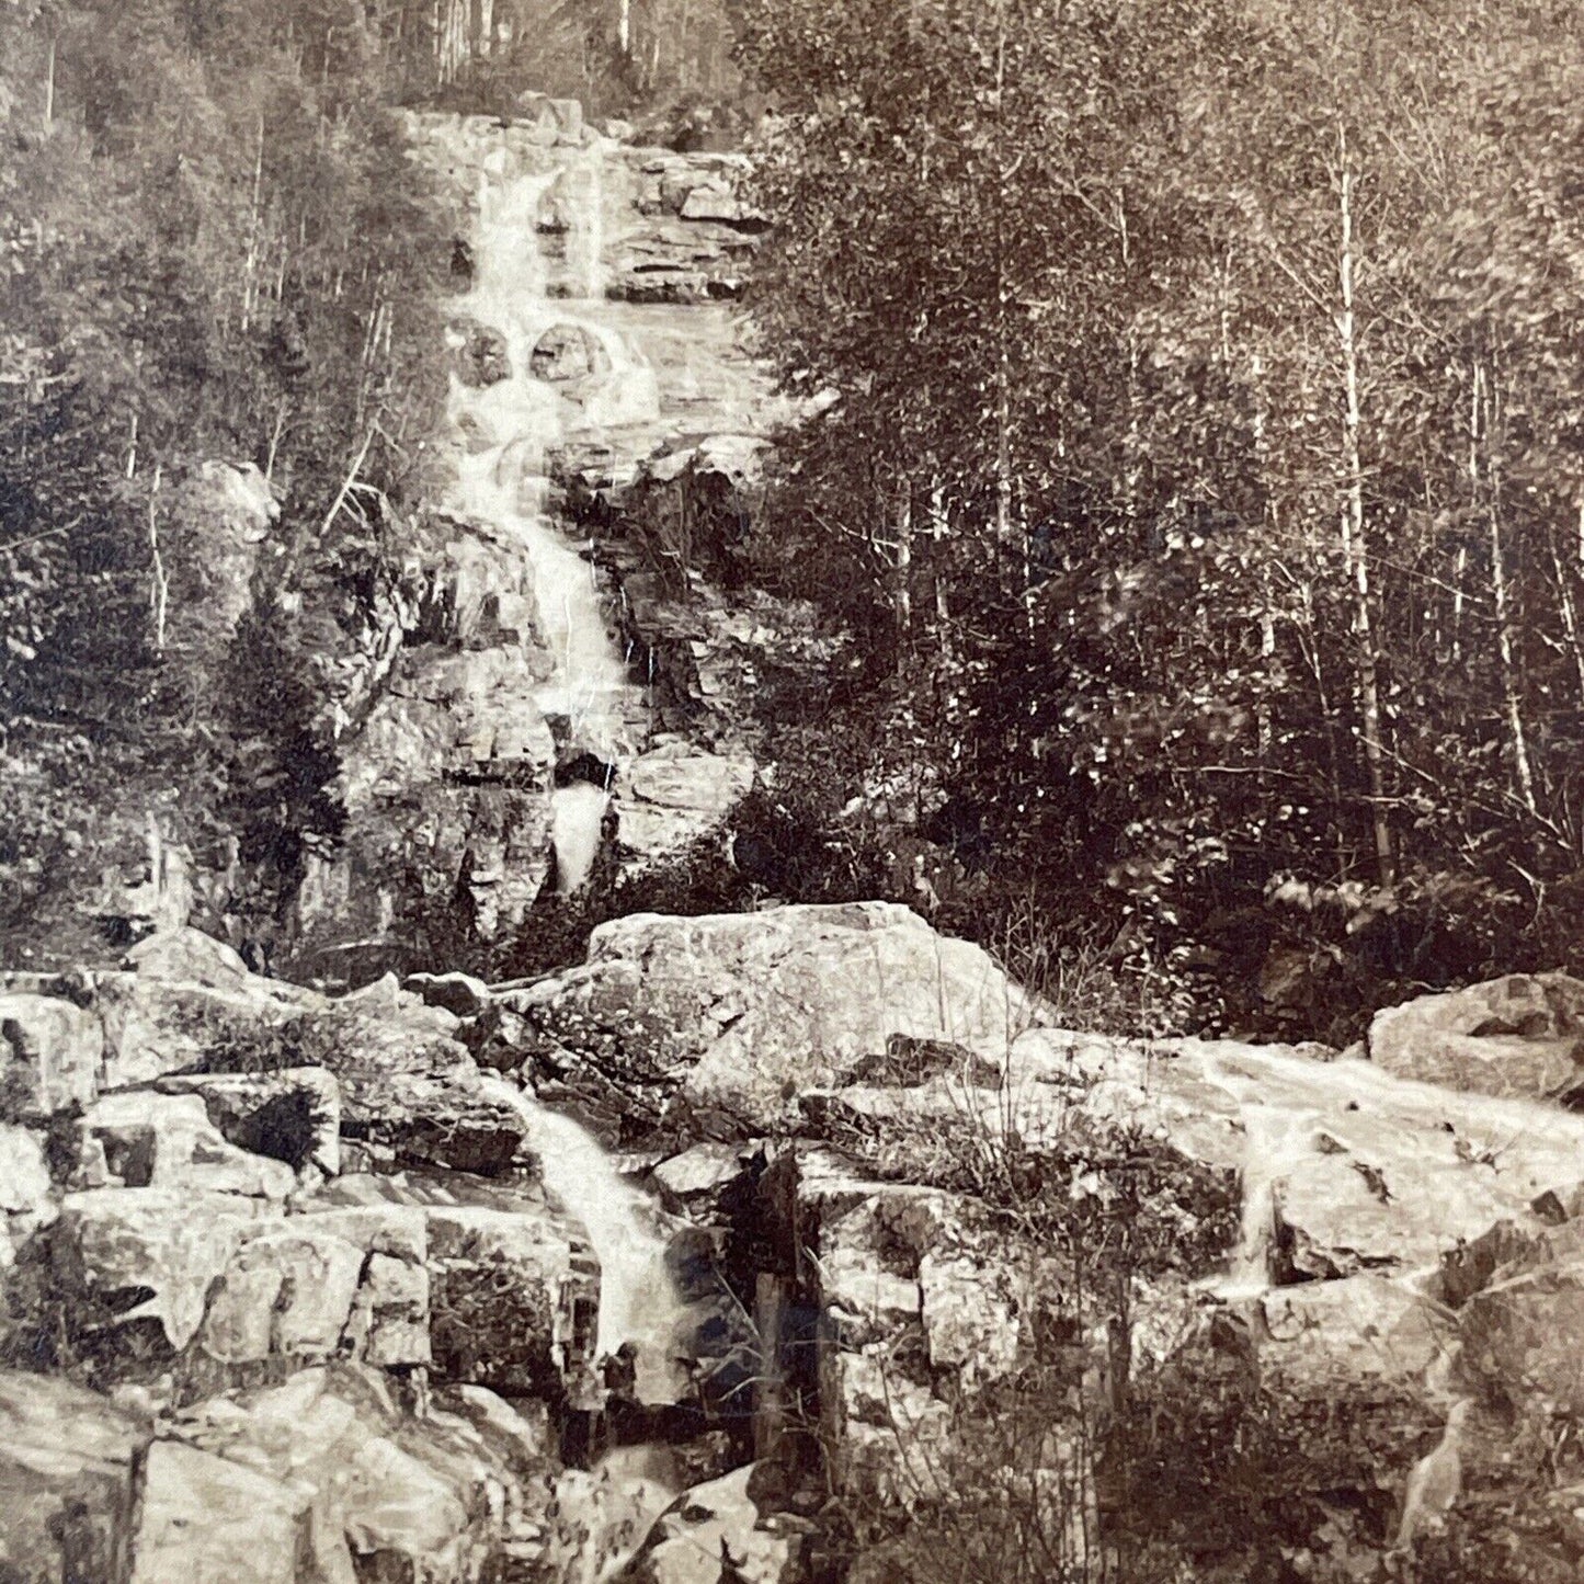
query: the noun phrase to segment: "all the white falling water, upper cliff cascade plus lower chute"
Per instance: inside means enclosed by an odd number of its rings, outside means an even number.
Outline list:
[[[551,193],[551,187],[554,192]],[[608,323],[604,301],[605,149],[570,154],[559,173],[510,174],[486,168],[474,238],[475,280],[464,310],[497,333],[510,377],[482,390],[453,380],[451,417],[470,434],[453,505],[459,516],[488,523],[521,545],[531,569],[540,637],[551,672],[535,705],[569,757],[589,754],[618,767],[642,751],[640,692],[607,627],[592,564],[548,513],[550,461],[580,434],[651,421],[659,413],[654,372]],[[539,219],[553,198],[569,223],[567,265],[575,303],[553,299]],[[575,379],[534,372],[534,348],[554,329],[591,350],[591,369]],[[638,740],[635,740],[638,738]],[[600,849],[610,803],[604,786],[577,781],[553,795],[551,843],[558,885],[578,889]],[[629,1348],[640,1403],[680,1399],[676,1359],[684,1318],[665,1264],[665,1232],[654,1205],[570,1117],[548,1110],[505,1079],[482,1076],[485,1088],[524,1121],[545,1188],[588,1232],[600,1267],[596,1353]],[[591,1472],[569,1470],[558,1486],[558,1541],[565,1584],[597,1584],[621,1568],[676,1491],[653,1448],[618,1448]]]

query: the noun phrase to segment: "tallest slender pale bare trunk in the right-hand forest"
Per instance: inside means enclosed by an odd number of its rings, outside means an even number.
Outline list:
[[[1353,160],[1348,152],[1346,127],[1337,122],[1338,222],[1340,247],[1337,285],[1340,312],[1337,336],[1342,345],[1342,554],[1353,584],[1354,673],[1359,687],[1359,713],[1364,725],[1364,768],[1369,779],[1370,828],[1375,838],[1375,868],[1383,885],[1396,874],[1391,822],[1386,817],[1386,749],[1381,732],[1380,662],[1375,653],[1375,624],[1370,599],[1370,545],[1364,515],[1364,463],[1361,434],[1364,415],[1359,406],[1359,348],[1354,318],[1354,241],[1353,241]]]

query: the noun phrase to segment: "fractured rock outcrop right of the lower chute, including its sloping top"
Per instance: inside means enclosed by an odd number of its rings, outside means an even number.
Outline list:
[[[922,1080],[893,1066],[805,1093],[806,1142],[784,1156],[822,1435],[851,1511],[925,1514],[942,1484],[996,1478],[1011,1453],[985,1437],[1049,1415],[1041,1381],[1079,1392],[1061,1410],[1077,1435],[1118,1413],[1120,1389],[1209,1369],[1185,1364],[1202,1346],[1245,1359],[1281,1411],[1354,1405],[1362,1460],[1316,1443],[1264,1478],[1269,1498],[1308,1503],[1357,1481],[1378,1514],[1345,1525],[1362,1549],[1389,1549],[1457,1392],[1478,1407],[1465,1454],[1489,1470],[1506,1456],[1503,1403],[1533,1422],[1574,1411],[1579,1118],[1278,1047],[1034,1028],[1000,1071],[968,1055]],[[684,1188],[687,1159],[667,1167]],[[1099,1228],[1128,1194],[1142,1198],[1118,1354]],[[1169,1228],[1158,1245],[1152,1223]],[[1088,1454],[1060,1434],[1044,1446],[1052,1491],[1079,1502]]]

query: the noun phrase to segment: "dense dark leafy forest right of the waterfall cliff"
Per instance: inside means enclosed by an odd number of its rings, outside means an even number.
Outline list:
[[[1338,1038],[1578,966],[1576,8],[756,0],[743,52],[759,325],[840,396],[763,573],[870,637],[836,737],[941,917]]]

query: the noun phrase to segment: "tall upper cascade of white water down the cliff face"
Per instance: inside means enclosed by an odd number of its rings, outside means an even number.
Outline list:
[[[600,607],[594,567],[546,518],[551,451],[581,429],[607,431],[653,420],[653,371],[599,322],[604,290],[604,150],[584,150],[580,168],[510,174],[486,171],[478,195],[477,276],[467,314],[501,336],[508,375],[482,390],[453,380],[451,415],[480,448],[458,469],[455,507],[516,539],[532,569],[542,637],[553,670],[537,691],[540,711],[573,751],[615,765],[642,748],[640,692],[629,683]],[[581,181],[567,177],[580,176]],[[550,296],[540,215],[551,196],[567,215],[584,293],[578,312]],[[535,375],[535,350],[570,347],[584,367],[570,377]],[[546,360],[548,361],[548,360]],[[562,787],[553,800],[551,840],[558,885],[577,890],[599,852],[608,786]]]

